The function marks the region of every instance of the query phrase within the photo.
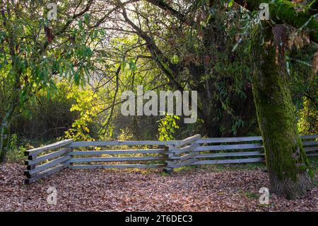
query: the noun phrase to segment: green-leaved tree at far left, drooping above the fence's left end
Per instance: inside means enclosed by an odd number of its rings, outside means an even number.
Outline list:
[[[37,101],[40,90],[47,89],[50,94],[56,89],[56,75],[68,77],[76,84],[84,84],[84,75],[89,74],[93,57],[87,41],[90,40],[91,44],[96,38],[83,26],[88,21],[88,14],[85,13],[92,2],[77,5],[64,2],[59,12],[71,16],[61,16],[59,21],[52,22],[45,16],[45,2],[1,1],[3,115],[0,161],[6,158],[13,117],[28,111],[25,108],[27,103]]]

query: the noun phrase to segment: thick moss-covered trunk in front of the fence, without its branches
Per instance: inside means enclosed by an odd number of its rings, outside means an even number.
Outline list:
[[[261,135],[264,139],[270,191],[293,199],[313,188],[312,171],[302,147],[287,76],[277,63],[271,27],[254,33],[253,91]],[[261,36],[265,38],[264,43]]]

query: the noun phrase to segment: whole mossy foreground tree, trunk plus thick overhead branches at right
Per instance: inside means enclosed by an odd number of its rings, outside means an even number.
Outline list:
[[[261,1],[236,1],[250,11],[258,10]],[[288,88],[285,47],[288,26],[308,30],[315,42],[318,21],[312,7],[297,11],[290,1],[269,2],[272,23],[265,21],[252,35],[254,65],[253,91],[259,128],[264,139],[266,164],[271,192],[287,198],[304,196],[313,188],[310,169],[295,120],[295,108]],[[311,6],[317,1],[313,1]],[[302,9],[302,6],[299,6]],[[316,11],[317,12],[317,11]],[[285,22],[285,25],[282,24]],[[255,59],[258,59],[257,62]]]

